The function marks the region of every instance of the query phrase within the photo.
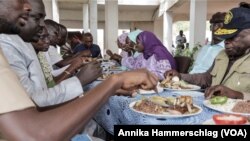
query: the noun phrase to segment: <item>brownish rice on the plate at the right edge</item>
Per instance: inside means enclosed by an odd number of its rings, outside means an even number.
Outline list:
[[[237,113],[248,113],[248,114],[250,114],[250,100],[237,102],[234,105],[232,111],[237,112]]]

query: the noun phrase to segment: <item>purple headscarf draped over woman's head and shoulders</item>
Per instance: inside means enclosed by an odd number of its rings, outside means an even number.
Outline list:
[[[174,57],[152,32],[143,31],[137,38],[144,46],[143,56],[145,59],[154,54],[157,61],[167,59],[172,69],[176,69]]]

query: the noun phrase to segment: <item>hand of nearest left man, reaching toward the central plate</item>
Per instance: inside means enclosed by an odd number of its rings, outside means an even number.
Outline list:
[[[154,90],[158,83],[158,77],[146,69],[138,69],[116,74],[120,82],[121,89],[135,91],[137,89]]]

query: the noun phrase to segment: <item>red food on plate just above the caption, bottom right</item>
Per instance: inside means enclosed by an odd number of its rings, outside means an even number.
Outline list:
[[[213,120],[217,125],[239,125],[247,123],[246,117],[234,114],[216,114],[213,115]]]

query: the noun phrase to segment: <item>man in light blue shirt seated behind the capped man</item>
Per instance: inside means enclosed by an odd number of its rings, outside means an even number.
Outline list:
[[[210,45],[203,46],[195,59],[193,69],[189,72],[203,73],[206,72],[213,64],[215,57],[224,49],[224,41],[214,36],[214,32],[223,26],[223,20],[226,13],[217,12],[210,20],[210,30],[212,31],[212,42]]]

